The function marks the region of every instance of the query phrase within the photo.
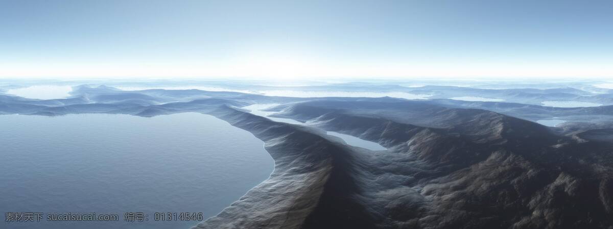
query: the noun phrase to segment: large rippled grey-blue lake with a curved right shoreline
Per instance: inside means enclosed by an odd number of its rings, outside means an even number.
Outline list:
[[[0,212],[96,212],[119,222],[12,223],[0,228],[189,228],[154,212],[215,216],[268,178],[262,141],[213,116],[0,115]],[[124,222],[124,212],[148,221]]]

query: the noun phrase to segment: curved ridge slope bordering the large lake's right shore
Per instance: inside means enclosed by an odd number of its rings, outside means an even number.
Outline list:
[[[346,146],[326,140],[313,130],[225,106],[210,113],[264,141],[275,159],[275,171],[267,181],[196,228],[300,228],[319,200],[326,198],[322,192],[329,183],[337,182],[338,176],[348,172],[343,165],[351,163],[352,156]],[[354,182],[343,179],[343,183]]]

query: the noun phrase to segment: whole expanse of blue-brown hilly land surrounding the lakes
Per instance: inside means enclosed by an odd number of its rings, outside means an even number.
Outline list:
[[[276,103],[273,116],[304,124],[242,109],[255,103]],[[612,111],[105,86],[80,86],[69,99],[0,95],[0,114],[200,112],[253,133],[275,171],[194,228],[613,228]],[[574,122],[533,122],[560,116]]]

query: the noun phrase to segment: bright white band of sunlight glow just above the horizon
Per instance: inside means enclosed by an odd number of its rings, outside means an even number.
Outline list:
[[[291,81],[309,78],[610,78],[609,65],[547,65],[497,63],[348,63],[340,61],[316,62],[292,58],[253,58],[234,62],[215,63],[75,63],[75,64],[0,64],[0,75],[8,78],[265,78]],[[611,87],[602,84],[600,87]]]

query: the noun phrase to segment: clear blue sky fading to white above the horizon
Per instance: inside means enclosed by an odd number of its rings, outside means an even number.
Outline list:
[[[613,1],[0,0],[0,78],[613,79]]]

